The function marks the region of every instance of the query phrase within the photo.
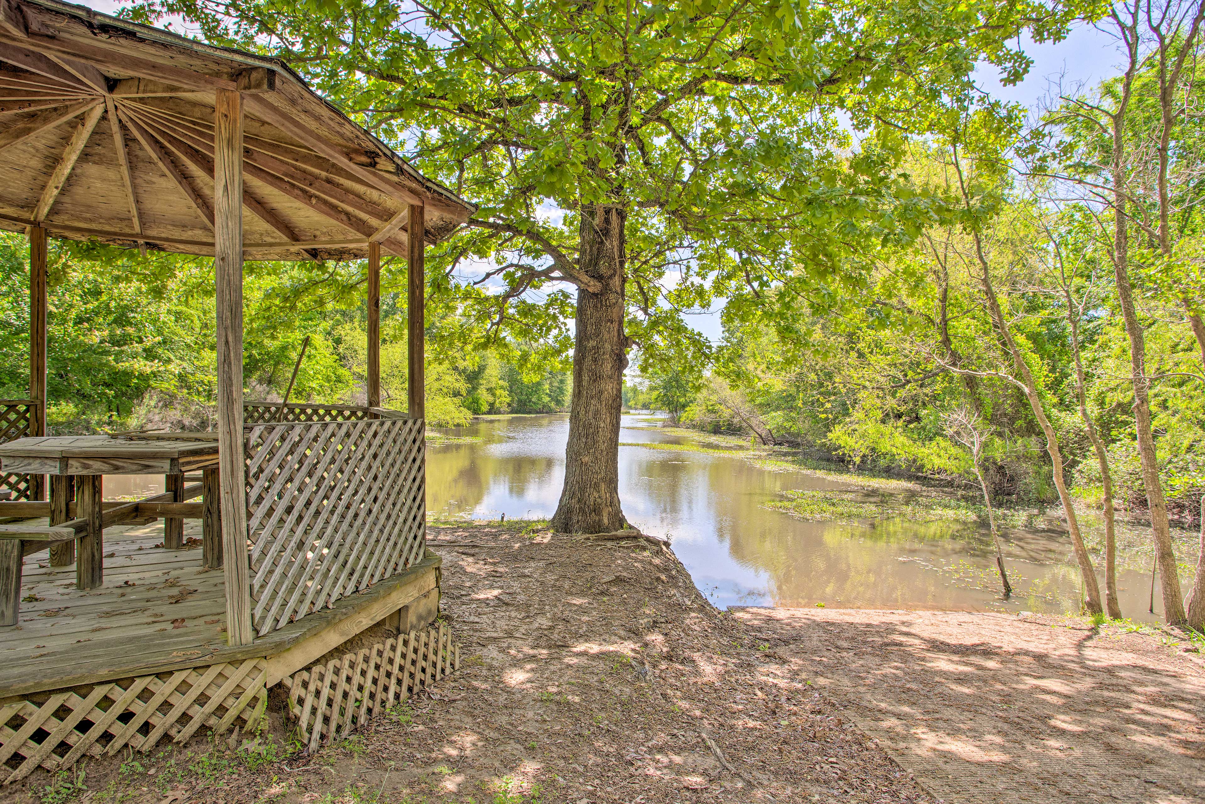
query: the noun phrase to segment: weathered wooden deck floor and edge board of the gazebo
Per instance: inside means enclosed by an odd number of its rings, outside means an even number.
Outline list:
[[[440,563],[428,553],[331,608],[230,647],[224,576],[204,567],[200,539],[196,521],[184,529],[184,544],[195,546],[183,550],[157,546],[163,544],[157,522],[106,528],[104,586],[88,591],[75,588],[74,565],[51,567],[46,553],[28,556],[20,623],[0,638],[0,702],[100,679],[282,656],[290,649],[321,655],[323,641],[342,641],[434,587]]]

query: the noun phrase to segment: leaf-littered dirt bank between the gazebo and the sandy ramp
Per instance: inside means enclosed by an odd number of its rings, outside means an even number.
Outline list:
[[[429,544],[466,657],[453,679],[315,756],[133,755],[86,767],[87,792],[60,777],[52,800],[931,800],[660,547],[523,524],[433,527]],[[24,800],[48,784],[31,776]]]

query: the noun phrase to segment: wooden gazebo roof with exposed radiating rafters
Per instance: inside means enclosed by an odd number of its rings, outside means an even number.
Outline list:
[[[0,228],[213,253],[214,90],[245,93],[248,259],[406,253],[475,206],[424,178],[286,64],[57,0],[0,0]]]

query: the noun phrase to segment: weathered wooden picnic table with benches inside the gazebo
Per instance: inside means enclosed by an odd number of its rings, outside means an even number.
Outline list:
[[[75,561],[76,587],[94,589],[104,582],[105,526],[123,520],[163,516],[164,547],[171,550],[183,544],[184,517],[200,515],[205,563],[221,565],[218,444],[212,435],[48,435],[0,445],[0,469],[4,471],[51,476],[48,505],[0,503],[0,516],[19,516],[22,511],[29,511],[29,516],[49,516],[49,527],[43,528],[0,526],[0,624],[14,624],[17,621],[20,562],[25,553],[45,550],[49,545],[51,563],[63,565]],[[200,488],[186,491],[184,473],[196,470],[202,473]],[[164,494],[124,505],[104,503],[104,475],[160,473],[165,481]],[[194,511],[194,506],[186,505],[184,500],[195,497],[196,492],[202,495],[204,504],[202,509]]]

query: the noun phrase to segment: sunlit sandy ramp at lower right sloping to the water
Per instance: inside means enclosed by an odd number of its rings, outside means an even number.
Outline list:
[[[1205,663],[1174,639],[1001,614],[736,616],[940,798],[1205,800]]]

